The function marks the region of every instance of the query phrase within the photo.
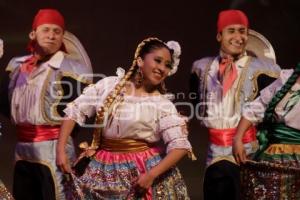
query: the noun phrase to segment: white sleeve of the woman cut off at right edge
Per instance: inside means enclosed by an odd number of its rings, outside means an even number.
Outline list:
[[[253,102],[246,103],[243,106],[243,117],[251,121],[253,124],[262,122],[268,104],[276,92],[281,89],[292,72],[292,70],[282,70],[280,77],[271,85],[263,89],[260,92],[259,97],[257,97]]]

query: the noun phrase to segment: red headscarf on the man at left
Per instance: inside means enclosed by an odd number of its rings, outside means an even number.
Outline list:
[[[62,29],[65,29],[64,17],[55,9],[41,9],[35,15],[32,30],[35,30],[42,24],[56,24]]]

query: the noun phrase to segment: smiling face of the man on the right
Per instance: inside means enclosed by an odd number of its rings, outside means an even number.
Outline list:
[[[248,28],[244,25],[233,24],[226,26],[217,34],[221,50],[231,56],[238,56],[245,51],[248,41]]]

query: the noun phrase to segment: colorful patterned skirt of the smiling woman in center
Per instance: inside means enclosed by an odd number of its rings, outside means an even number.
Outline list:
[[[80,177],[71,174],[67,199],[189,199],[176,167],[156,178],[143,195],[135,190],[138,177],[161,161],[159,148],[118,153],[100,150]]]

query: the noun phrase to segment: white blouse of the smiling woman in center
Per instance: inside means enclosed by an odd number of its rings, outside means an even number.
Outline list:
[[[121,77],[107,77],[88,86],[83,94],[64,110],[67,117],[80,125],[103,105],[109,92]],[[171,149],[191,149],[186,119],[178,114],[174,104],[163,95],[129,96],[114,106],[105,120],[106,138],[140,139],[155,143],[163,139],[167,152]]]

